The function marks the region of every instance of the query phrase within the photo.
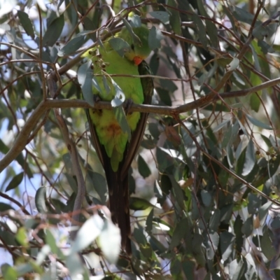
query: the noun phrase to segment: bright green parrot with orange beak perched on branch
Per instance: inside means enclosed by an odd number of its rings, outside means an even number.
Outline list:
[[[151,74],[144,61],[151,52],[148,33],[148,28],[142,25],[130,31],[124,27],[116,34],[116,38],[128,43],[123,57],[114,50],[110,40],[86,52],[84,56],[92,60],[94,82],[98,84],[93,87],[95,99],[111,102],[116,96],[116,88],[120,87],[126,100],[135,104],[151,104],[153,79],[129,77]],[[111,77],[113,74],[117,76]],[[112,110],[87,111],[92,142],[106,175],[112,221],[120,228],[122,248],[131,254],[128,171],[140,146],[148,113],[127,113],[126,118],[131,139],[120,127]]]

